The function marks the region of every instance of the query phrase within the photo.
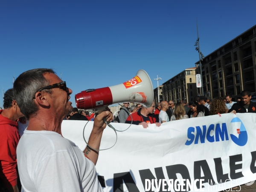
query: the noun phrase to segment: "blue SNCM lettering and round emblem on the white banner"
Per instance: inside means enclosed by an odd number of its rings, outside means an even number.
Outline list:
[[[230,134],[230,138],[235,144],[244,146],[247,143],[248,136],[243,122],[238,117],[235,117],[231,120],[231,123],[241,123],[240,129],[237,129],[239,136],[236,137],[235,135]],[[186,141],[185,145],[191,145],[192,143],[205,143],[205,140],[209,141],[210,143],[229,140],[226,123],[210,124],[209,127],[203,125],[202,128],[200,126],[189,127],[187,131],[188,140]]]

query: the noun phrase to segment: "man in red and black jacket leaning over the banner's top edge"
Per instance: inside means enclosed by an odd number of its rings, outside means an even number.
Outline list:
[[[125,123],[136,124],[136,125],[142,125],[144,129],[148,127],[148,124],[156,124],[157,127],[160,127],[160,123],[156,122],[156,119],[154,118],[154,102],[150,107],[145,107],[142,105],[142,107],[136,112],[132,113],[132,119],[131,116],[128,116]]]

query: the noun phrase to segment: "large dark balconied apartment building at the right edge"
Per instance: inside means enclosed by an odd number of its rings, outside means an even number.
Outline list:
[[[201,62],[204,94],[208,98],[225,96],[230,93],[233,99],[242,90],[256,92],[256,25],[238,37],[205,56]],[[200,74],[199,61],[196,74]],[[201,89],[197,89],[201,94]]]

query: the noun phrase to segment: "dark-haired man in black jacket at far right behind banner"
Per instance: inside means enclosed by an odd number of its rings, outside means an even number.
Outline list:
[[[256,103],[250,101],[251,97],[250,91],[243,90],[241,101],[233,104],[228,113],[232,110],[235,110],[236,113],[256,113]]]

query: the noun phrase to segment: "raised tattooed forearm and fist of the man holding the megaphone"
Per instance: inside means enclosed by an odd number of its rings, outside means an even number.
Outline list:
[[[93,130],[90,134],[88,145],[93,149],[99,150],[100,141],[102,138],[103,130],[106,128],[105,120],[108,122],[113,121],[113,114],[110,111],[103,111],[94,119]],[[84,154],[96,164],[99,156],[99,151],[93,150],[90,147],[85,148]]]

